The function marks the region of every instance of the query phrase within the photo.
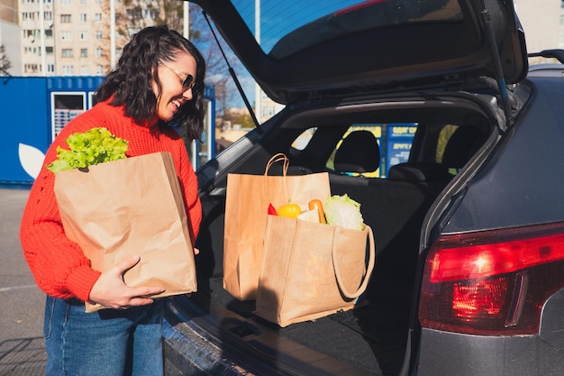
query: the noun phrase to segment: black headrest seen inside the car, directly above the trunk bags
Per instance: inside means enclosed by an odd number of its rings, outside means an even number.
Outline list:
[[[335,153],[335,170],[339,172],[373,172],[380,166],[380,148],[373,133],[354,131],[341,142]]]

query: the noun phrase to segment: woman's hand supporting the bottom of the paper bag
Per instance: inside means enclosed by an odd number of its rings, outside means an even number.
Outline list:
[[[100,274],[100,278],[96,280],[90,291],[90,302],[114,309],[127,309],[152,303],[153,299],[150,297],[163,293],[165,289],[159,287],[131,288],[123,282],[123,273],[140,260],[139,256],[135,256]]]

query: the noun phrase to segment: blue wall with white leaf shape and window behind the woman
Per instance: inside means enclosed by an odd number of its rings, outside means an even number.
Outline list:
[[[94,105],[104,77],[0,77],[0,186],[31,186],[50,143],[68,122]],[[214,89],[205,96],[214,110]],[[206,124],[214,140],[214,115]],[[196,155],[200,145],[196,145]],[[213,150],[213,149],[212,149]],[[206,155],[213,158],[214,155]],[[198,159],[199,162],[199,159]]]

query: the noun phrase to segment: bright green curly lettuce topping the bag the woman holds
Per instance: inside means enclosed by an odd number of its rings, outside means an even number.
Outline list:
[[[127,141],[115,137],[106,128],[92,128],[68,136],[69,149],[57,148],[57,160],[47,165],[52,172],[80,169],[98,163],[127,158]]]

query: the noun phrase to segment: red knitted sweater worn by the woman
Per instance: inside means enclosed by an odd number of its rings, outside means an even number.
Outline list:
[[[71,133],[83,133],[105,127],[110,133],[128,141],[128,157],[157,151],[172,153],[180,184],[184,189],[190,235],[196,239],[202,206],[197,195],[196,173],[188,160],[182,138],[172,128],[159,130],[155,124],[135,124],[123,115],[123,107],[100,103],[69,122],[50,145],[44,165],[57,158],[57,147],[68,149]],[[90,268],[82,250],[65,236],[57,200],[53,192],[55,174],[42,168],[32,186],[23,210],[20,238],[23,253],[39,287],[56,298],[88,300],[90,290],[100,276]]]

